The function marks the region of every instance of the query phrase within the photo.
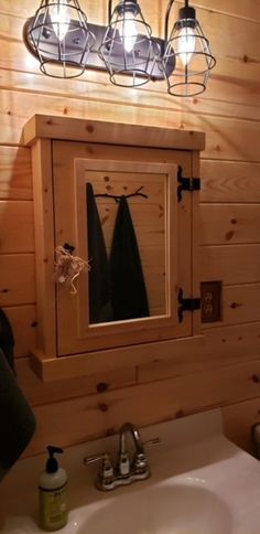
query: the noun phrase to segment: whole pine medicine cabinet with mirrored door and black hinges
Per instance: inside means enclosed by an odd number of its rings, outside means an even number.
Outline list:
[[[169,360],[199,338],[204,142],[202,132],[65,117],[25,125],[39,330],[31,361],[43,381]],[[67,281],[55,268],[64,247],[68,263],[85,266]]]

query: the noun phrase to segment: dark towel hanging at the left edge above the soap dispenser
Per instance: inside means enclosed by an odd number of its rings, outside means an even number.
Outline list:
[[[13,346],[11,325],[0,310],[0,481],[29,445],[36,426],[14,375]]]

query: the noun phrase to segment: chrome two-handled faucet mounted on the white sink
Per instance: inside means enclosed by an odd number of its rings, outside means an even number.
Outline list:
[[[130,455],[128,449],[128,435],[132,436],[134,451]],[[159,438],[145,441],[145,447],[160,444]],[[139,429],[132,423],[124,423],[119,432],[119,459],[113,468],[107,452],[84,459],[85,464],[101,460],[101,469],[96,479],[98,490],[109,491],[120,485],[128,485],[137,480],[145,480],[151,476],[149,462],[144,452]]]

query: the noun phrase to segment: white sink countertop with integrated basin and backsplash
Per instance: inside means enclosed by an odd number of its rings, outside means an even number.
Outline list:
[[[219,410],[147,427],[152,477],[100,492],[83,458],[118,450],[118,436],[65,450],[69,521],[61,534],[259,534],[260,462],[228,441]],[[2,534],[39,534],[37,481],[45,456],[17,463],[0,485]]]

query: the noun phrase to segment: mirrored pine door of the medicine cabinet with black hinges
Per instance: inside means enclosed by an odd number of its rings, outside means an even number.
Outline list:
[[[192,290],[192,201],[186,193],[177,202],[178,165],[185,175],[191,175],[188,151],[53,142],[55,247],[68,243],[74,247],[73,255],[88,261],[93,269],[87,216],[87,184],[90,183],[110,276],[111,244],[119,210],[115,196],[124,195],[149,305],[148,313],[142,317],[118,319],[112,312],[108,320],[95,322],[89,303],[89,271],[82,271],[75,280],[75,293],[69,285],[57,284],[59,356],[192,334],[191,314],[184,313],[180,322],[177,313],[180,288],[185,296],[191,296]],[[137,192],[141,194],[134,195]],[[124,239],[129,238],[126,234]],[[131,273],[123,279],[126,293],[132,284],[130,279]],[[111,286],[113,290],[115,281]]]

